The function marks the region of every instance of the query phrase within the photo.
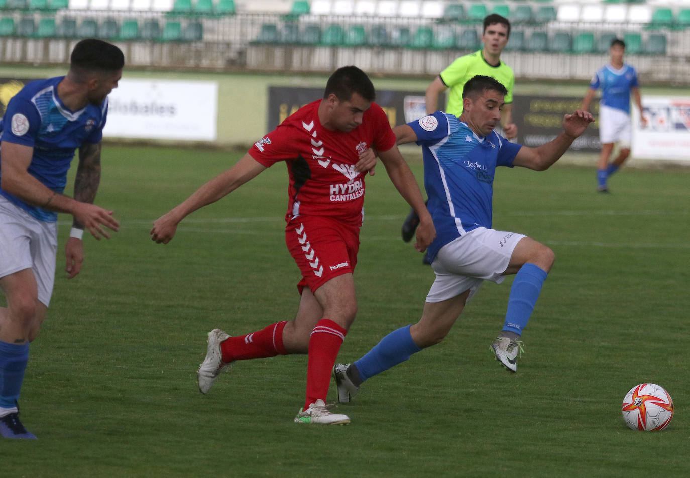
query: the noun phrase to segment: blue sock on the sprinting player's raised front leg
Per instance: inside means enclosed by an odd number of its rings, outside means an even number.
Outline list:
[[[522,335],[546,280],[546,270],[533,263],[524,264],[515,275],[503,330]]]

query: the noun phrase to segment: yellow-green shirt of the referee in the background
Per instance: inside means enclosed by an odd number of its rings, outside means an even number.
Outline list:
[[[479,50],[458,58],[441,72],[441,81],[450,88],[446,112],[460,116],[462,113],[462,87],[477,74],[491,77],[505,86],[508,90],[505,99],[506,105],[513,103],[513,86],[515,85],[513,68],[503,61],[499,66],[489,65],[482,57],[482,50]]]

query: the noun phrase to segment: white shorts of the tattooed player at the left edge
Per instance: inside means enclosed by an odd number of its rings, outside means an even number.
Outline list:
[[[57,223],[34,219],[0,196],[0,277],[32,269],[38,299],[48,307],[56,257]]]

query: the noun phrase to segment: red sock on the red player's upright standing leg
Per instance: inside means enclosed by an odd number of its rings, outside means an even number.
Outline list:
[[[331,370],[347,330],[332,320],[321,319],[309,337],[309,361],[306,368],[304,410],[317,399],[326,401],[331,384]]]

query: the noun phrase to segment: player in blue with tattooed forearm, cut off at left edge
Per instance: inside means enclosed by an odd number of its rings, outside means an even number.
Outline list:
[[[28,83],[0,123],[0,435],[35,438],[19,421],[17,399],[29,343],[46,317],[55,279],[57,213],[72,215],[65,247],[68,278],[81,270],[84,228],[109,238],[112,211],[95,206],[101,179],[101,138],[108,94],[117,88],[124,56],[97,39],[79,41],[65,77]],[[63,195],[79,148],[74,198]]]

